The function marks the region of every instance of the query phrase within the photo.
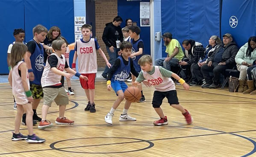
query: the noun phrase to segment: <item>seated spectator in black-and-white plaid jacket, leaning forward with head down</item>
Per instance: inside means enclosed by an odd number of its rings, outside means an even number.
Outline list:
[[[191,74],[190,67],[194,64],[197,64],[200,58],[203,57],[204,48],[203,45],[194,40],[184,40],[182,42],[182,47],[185,49],[185,58],[179,62],[181,67],[180,77],[188,82],[189,76]],[[177,84],[179,84],[177,82]]]

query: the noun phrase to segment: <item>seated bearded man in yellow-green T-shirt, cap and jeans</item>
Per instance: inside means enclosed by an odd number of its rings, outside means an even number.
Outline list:
[[[177,72],[179,70],[177,68],[179,67],[179,61],[184,57],[179,41],[173,39],[170,32],[165,32],[162,38],[165,41],[164,45],[166,46],[165,52],[167,53],[167,57],[156,59],[155,65],[162,66],[169,71]]]

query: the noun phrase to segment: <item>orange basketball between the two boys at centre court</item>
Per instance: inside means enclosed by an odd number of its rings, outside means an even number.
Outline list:
[[[141,99],[141,91],[137,87],[128,87],[124,91],[124,98],[128,102],[137,102]]]

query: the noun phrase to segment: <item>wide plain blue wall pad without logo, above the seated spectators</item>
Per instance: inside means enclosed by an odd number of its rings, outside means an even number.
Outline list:
[[[193,39],[209,44],[212,35],[220,35],[220,2],[218,0],[162,0],[162,34],[171,32],[180,44]],[[162,56],[166,47],[162,42]]]

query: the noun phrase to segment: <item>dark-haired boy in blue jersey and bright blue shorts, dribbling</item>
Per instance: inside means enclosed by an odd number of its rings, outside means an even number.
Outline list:
[[[131,72],[134,76],[138,77],[138,73],[135,71],[133,67],[133,62],[130,59],[129,55],[132,54],[132,44],[128,41],[123,41],[120,43],[120,49],[122,55],[119,56],[111,69],[109,70],[108,78],[107,78],[107,88],[110,90],[113,88],[118,99],[114,102],[111,110],[105,116],[105,122],[112,124],[112,117],[116,108],[120,105],[120,103],[124,100],[124,91],[127,89],[127,84],[124,82]],[[119,121],[135,121],[135,118],[132,118],[127,114],[127,111],[132,102],[125,102],[123,114],[121,114]]]

